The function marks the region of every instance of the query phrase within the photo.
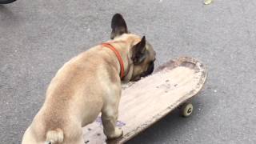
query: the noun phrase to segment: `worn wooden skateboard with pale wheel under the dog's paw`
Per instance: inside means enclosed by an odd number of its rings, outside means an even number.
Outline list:
[[[123,130],[121,138],[106,140],[100,115],[83,128],[85,143],[124,143],[153,125],[177,107],[184,117],[190,116],[190,98],[206,82],[206,68],[194,58],[182,57],[166,62],[154,74],[123,86],[116,125]]]

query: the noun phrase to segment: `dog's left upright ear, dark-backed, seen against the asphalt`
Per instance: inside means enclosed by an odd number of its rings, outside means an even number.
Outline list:
[[[124,33],[128,33],[126,21],[122,18],[121,14],[114,14],[111,22],[111,28],[111,39],[114,39],[115,37]]]

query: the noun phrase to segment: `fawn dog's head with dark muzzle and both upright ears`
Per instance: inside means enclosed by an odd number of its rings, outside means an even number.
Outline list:
[[[114,14],[111,22],[111,39],[126,39],[130,45],[130,74],[129,81],[138,81],[141,77],[146,77],[154,71],[155,51],[145,36],[142,38],[136,34],[130,34],[126,22],[121,14]]]

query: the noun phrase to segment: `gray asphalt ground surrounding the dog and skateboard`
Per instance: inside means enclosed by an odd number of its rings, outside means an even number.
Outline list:
[[[190,118],[178,111],[128,143],[256,143],[256,2],[253,0],[18,0],[0,6],[0,143],[20,143],[64,62],[110,38],[123,14],[158,65],[188,55],[209,70]]]

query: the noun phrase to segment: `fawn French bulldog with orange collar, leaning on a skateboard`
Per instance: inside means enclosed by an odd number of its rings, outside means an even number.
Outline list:
[[[58,70],[22,144],[82,144],[82,127],[100,113],[106,137],[122,136],[115,125],[122,82],[151,74],[156,53],[145,36],[130,34],[121,14],[114,14],[111,28],[110,41],[78,54]]]

